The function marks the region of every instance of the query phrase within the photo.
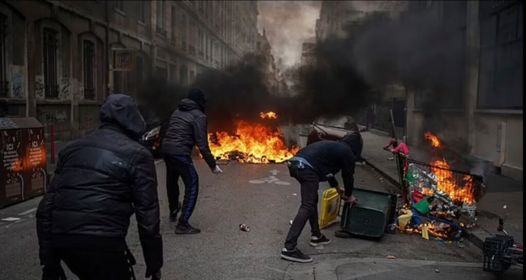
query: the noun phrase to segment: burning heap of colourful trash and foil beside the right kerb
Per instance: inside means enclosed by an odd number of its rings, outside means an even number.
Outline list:
[[[442,149],[438,137],[427,132],[434,149]],[[482,177],[450,169],[446,159],[438,156],[428,163],[406,158],[403,187],[411,196],[397,218],[397,228],[404,233],[422,234],[440,240],[458,240],[462,215],[474,217],[476,201],[483,195]],[[460,245],[459,245],[460,246]]]

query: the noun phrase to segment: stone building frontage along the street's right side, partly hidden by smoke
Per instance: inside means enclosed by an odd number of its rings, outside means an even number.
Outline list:
[[[316,36],[322,40],[344,31],[352,34],[368,13],[403,19],[407,10],[438,19],[458,46],[468,50],[461,65],[466,68],[462,86],[453,92],[433,92],[446,103],[434,104],[439,109],[433,118],[440,121],[431,124],[425,107],[429,89],[392,85],[386,89],[392,102],[375,104],[376,113],[383,112],[375,120],[377,128],[389,131],[388,112],[393,109],[400,113],[395,113],[398,136],[404,135],[409,144],[424,144],[423,133],[433,126],[443,141],[462,143],[462,152],[471,159],[522,181],[523,8],[521,1],[324,1]]]

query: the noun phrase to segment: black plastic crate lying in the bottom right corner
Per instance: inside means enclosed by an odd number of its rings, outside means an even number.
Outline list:
[[[511,236],[487,237],[483,246],[484,271],[495,273],[507,271],[511,264],[505,259],[505,251],[512,246],[513,237]]]

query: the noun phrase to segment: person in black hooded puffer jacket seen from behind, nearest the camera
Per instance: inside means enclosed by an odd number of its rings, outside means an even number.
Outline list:
[[[123,94],[106,98],[100,122],[95,132],[60,151],[38,205],[43,279],[64,277],[61,259],[81,280],[135,277],[125,240],[134,213],[146,277],[159,279],[163,241],[154,159],[136,142],[146,124],[133,99]]]

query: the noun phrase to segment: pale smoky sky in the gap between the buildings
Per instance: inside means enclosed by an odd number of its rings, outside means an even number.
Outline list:
[[[316,35],[320,8],[321,1],[258,1],[259,32],[265,28],[281,69],[299,62],[301,44]]]

